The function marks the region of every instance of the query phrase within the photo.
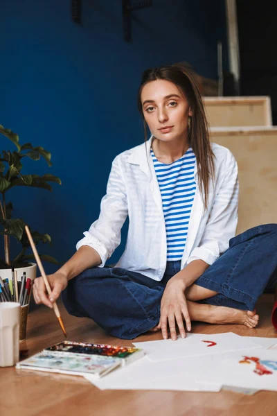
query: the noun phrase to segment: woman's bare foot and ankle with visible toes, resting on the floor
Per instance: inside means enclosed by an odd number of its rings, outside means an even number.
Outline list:
[[[188,301],[188,313],[191,320],[209,322],[211,324],[244,324],[255,328],[259,322],[259,315],[254,311],[241,311],[226,306],[197,304]]]

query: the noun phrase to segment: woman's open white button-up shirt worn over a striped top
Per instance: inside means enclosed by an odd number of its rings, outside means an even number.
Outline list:
[[[107,193],[101,200],[100,216],[91,224],[82,245],[94,248],[105,263],[120,244],[121,227],[129,216],[127,243],[116,267],[161,280],[166,270],[166,226],[157,175],[150,148],[153,137],[116,156],[111,166]],[[238,166],[231,151],[212,144],[215,154],[215,180],[209,183],[208,209],[197,190],[190,216],[181,269],[190,261],[202,259],[211,265],[229,248],[238,223]]]

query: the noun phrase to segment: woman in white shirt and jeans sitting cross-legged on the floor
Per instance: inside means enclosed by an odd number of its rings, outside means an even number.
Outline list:
[[[228,149],[210,144],[189,69],[145,71],[138,102],[145,144],[114,159],[98,220],[48,276],[49,297],[42,278],[35,280],[35,301],[52,307],[63,291],[69,313],[125,339],[160,329],[164,339],[168,329],[172,340],[177,331],[185,338],[190,320],[256,327],[256,301],[276,280],[276,225],[234,237],[237,164]],[[109,268],[127,215],[125,251]]]

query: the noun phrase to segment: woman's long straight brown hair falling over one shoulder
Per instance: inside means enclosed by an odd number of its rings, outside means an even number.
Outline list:
[[[215,155],[213,154],[213,150],[211,148],[208,133],[208,122],[206,119],[202,97],[197,86],[195,73],[186,64],[166,65],[144,71],[137,97],[139,112],[141,112],[142,116],[143,107],[141,103],[141,91],[145,84],[154,80],[167,80],[177,85],[188,100],[188,105],[193,113],[190,120],[190,128],[188,129],[188,143],[195,153],[199,175],[199,189],[206,209],[208,204],[208,181],[210,177],[214,179],[215,174],[215,164],[213,161],[213,157]],[[148,130],[144,117],[143,125],[146,142]]]

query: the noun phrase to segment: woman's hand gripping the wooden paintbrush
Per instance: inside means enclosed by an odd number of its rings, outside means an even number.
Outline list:
[[[57,300],[62,291],[66,288],[68,281],[62,272],[55,272],[47,276],[48,282],[52,289],[50,295],[46,291],[43,277],[37,277],[34,281],[33,295],[36,304],[44,304],[53,308],[53,302]]]

